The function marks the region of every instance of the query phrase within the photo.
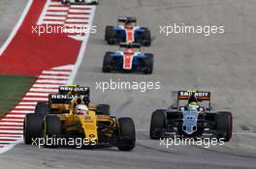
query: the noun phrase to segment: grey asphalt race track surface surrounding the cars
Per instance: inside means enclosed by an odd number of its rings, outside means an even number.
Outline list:
[[[255,6],[254,0],[103,0],[93,23],[97,34],[89,39],[75,83],[90,86],[91,100],[111,104],[113,115],[134,119],[136,149],[126,153],[116,148],[39,149],[19,144],[0,155],[0,168],[256,168]],[[143,50],[155,55],[153,74],[101,72],[105,52],[117,49],[104,42],[104,29],[106,25],[116,24],[118,15],[134,15],[139,25],[150,28],[152,46]],[[0,20],[2,17],[3,14]],[[160,25],[174,23],[224,25],[225,33],[208,37],[195,34],[167,37],[159,33]],[[161,90],[103,93],[96,89],[96,82],[110,79],[159,81]],[[234,135],[224,146],[167,149],[159,141],[148,138],[151,112],[170,106],[171,91],[191,87],[211,91],[212,106],[233,113]]]

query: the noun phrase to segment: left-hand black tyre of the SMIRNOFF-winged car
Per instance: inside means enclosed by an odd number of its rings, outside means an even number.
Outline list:
[[[155,110],[151,116],[151,123],[149,129],[149,136],[151,139],[159,139],[162,135],[165,124],[165,111],[164,109]]]

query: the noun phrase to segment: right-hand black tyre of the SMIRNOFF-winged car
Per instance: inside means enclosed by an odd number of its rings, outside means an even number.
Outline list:
[[[233,117],[231,112],[217,112],[216,130],[219,132],[218,138],[223,138],[225,142],[232,137]]]

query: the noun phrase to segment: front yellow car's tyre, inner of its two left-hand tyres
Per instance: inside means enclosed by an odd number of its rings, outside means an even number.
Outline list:
[[[47,148],[57,148],[59,145],[56,142],[57,138],[61,136],[62,125],[61,121],[57,116],[47,116],[45,121],[45,147]]]

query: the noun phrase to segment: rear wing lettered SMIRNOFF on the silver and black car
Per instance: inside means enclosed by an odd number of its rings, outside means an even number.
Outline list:
[[[210,92],[203,91],[178,91],[177,99],[189,99],[192,94],[195,94],[199,101],[210,100]]]

